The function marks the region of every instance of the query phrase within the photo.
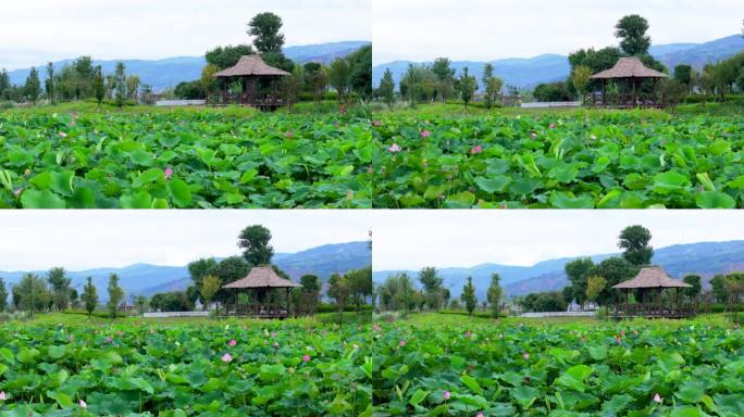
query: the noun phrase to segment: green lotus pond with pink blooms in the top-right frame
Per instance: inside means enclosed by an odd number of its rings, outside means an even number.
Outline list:
[[[375,206],[743,207],[744,117],[376,115]]]

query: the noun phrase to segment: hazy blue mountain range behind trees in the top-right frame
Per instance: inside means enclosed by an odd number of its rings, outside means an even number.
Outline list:
[[[704,43],[669,43],[652,46],[648,52],[668,68],[686,63],[700,70],[705,64],[718,62],[744,51],[744,38],[741,35],[732,35]],[[406,73],[412,61],[394,61],[374,65],[372,67],[372,85],[380,86],[386,68],[393,73],[396,86]],[[429,63],[429,62],[427,62]],[[517,58],[491,61],[494,65],[494,74],[504,79],[506,85],[519,88],[533,88],[541,83],[554,83],[568,78],[570,65],[567,55],[543,54],[534,58]],[[451,67],[460,74],[462,68],[468,67],[481,84],[483,67],[486,62],[454,61]]]

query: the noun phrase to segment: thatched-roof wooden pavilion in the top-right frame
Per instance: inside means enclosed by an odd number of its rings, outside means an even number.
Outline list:
[[[591,103],[596,108],[634,109],[653,108],[662,109],[667,105],[665,94],[658,91],[658,80],[669,78],[669,75],[652,70],[635,56],[621,58],[613,67],[605,70],[590,77],[592,80],[602,81],[602,91],[592,92]],[[642,91],[644,81],[650,80],[652,91]],[[616,81],[619,92],[608,92],[607,84]],[[646,86],[647,83],[646,83]]]

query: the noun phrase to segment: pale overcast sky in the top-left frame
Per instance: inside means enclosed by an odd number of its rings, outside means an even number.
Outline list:
[[[98,60],[202,55],[250,42],[247,23],[278,14],[285,46],[370,40],[372,0],[3,1],[0,67],[92,55]]]

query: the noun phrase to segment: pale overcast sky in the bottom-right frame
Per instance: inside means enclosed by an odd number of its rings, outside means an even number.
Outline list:
[[[375,216],[373,269],[531,266],[619,252],[620,230],[634,224],[650,230],[655,248],[744,240],[744,211],[386,211]]]

